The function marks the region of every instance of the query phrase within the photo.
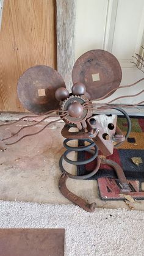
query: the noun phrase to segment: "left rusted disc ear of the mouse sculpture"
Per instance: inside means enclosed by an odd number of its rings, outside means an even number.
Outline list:
[[[18,98],[27,110],[45,114],[59,108],[55,97],[59,87],[65,87],[65,82],[56,70],[44,65],[31,67],[18,80]]]

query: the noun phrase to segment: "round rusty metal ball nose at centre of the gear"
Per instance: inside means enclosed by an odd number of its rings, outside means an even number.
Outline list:
[[[81,117],[83,113],[83,108],[81,103],[79,102],[73,102],[68,107],[68,114],[71,117]]]

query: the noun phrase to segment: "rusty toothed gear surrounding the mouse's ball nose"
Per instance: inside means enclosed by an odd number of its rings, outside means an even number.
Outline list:
[[[67,111],[70,104],[73,103],[74,101],[77,101],[78,103],[84,104],[85,102],[90,101],[90,100],[87,97],[85,97],[85,95],[82,95],[82,96],[71,95],[66,100],[62,101],[62,103],[60,105],[60,110]],[[79,128],[79,130],[81,130],[82,128],[87,127],[87,125],[85,123],[85,120],[88,119],[88,117],[90,117],[91,115],[92,115],[91,110],[84,109],[81,117],[71,117],[70,115],[68,115],[63,120],[67,124],[76,125],[77,128]]]

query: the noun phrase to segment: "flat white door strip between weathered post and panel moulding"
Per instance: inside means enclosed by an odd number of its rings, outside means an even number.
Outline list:
[[[76,59],[90,49],[102,49],[106,0],[76,0]]]

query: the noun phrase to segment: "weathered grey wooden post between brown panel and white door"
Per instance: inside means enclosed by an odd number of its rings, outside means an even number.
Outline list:
[[[71,90],[74,65],[76,0],[57,0],[57,71]]]

